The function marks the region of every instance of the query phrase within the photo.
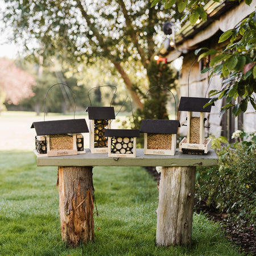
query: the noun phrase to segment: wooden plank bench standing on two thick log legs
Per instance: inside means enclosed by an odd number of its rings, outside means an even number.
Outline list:
[[[207,155],[190,155],[176,151],[174,156],[144,155],[136,158],[109,158],[108,154],[86,154],[37,158],[38,166],[58,166],[61,237],[69,245],[93,241],[94,166],[162,166],[156,245],[191,243],[195,198],[196,166],[215,166],[213,150]]]

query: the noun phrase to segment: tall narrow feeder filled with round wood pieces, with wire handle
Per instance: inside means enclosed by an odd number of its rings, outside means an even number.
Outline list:
[[[110,102],[110,106],[92,106],[90,101],[89,92],[92,89],[112,86],[115,88],[114,95]],[[102,85],[94,87],[88,91],[88,98],[90,101],[90,106],[86,109],[89,117],[89,138],[90,138],[90,151],[94,153],[107,153],[108,152],[108,138],[105,137],[105,129],[110,127],[112,119],[115,119],[114,107],[112,101],[114,99],[117,88],[113,85]]]

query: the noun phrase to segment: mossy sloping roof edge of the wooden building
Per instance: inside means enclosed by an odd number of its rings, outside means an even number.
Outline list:
[[[256,1],[252,1],[250,6],[246,5],[245,1],[220,0],[219,3],[213,0],[209,1],[204,6],[207,20],[200,20],[193,26],[189,21],[185,23],[175,34],[176,48],[170,47],[168,51],[163,51],[161,48],[160,55],[163,52],[163,56],[170,62],[187,54],[218,31],[225,32],[236,27],[238,23],[255,11],[255,7]]]

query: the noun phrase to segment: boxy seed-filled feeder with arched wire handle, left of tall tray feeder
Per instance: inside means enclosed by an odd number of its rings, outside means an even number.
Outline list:
[[[171,90],[164,86],[171,94]],[[148,90],[150,90],[148,89]],[[147,92],[148,92],[147,90]],[[147,92],[144,99],[146,98]],[[174,96],[174,94],[172,94]],[[175,98],[174,98],[175,100]],[[144,104],[144,108],[146,105]],[[146,117],[146,111],[145,111]],[[175,101],[175,117],[176,117],[176,101]],[[178,127],[180,127],[179,120],[166,119],[142,119],[141,133],[144,133],[144,154],[145,155],[175,155],[176,151],[176,135]]]

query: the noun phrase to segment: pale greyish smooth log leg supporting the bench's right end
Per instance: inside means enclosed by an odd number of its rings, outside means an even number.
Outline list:
[[[159,184],[156,245],[189,245],[196,167],[163,167]]]

